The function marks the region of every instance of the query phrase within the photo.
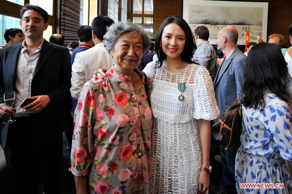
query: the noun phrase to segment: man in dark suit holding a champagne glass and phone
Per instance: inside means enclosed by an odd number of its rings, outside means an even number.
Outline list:
[[[0,117],[11,116],[14,123],[1,123],[0,144],[13,178],[13,193],[45,194],[60,190],[62,103],[71,87],[68,48],[43,39],[48,13],[26,4],[20,10],[20,26],[25,41],[0,50]],[[4,91],[15,91],[13,108],[3,103]],[[34,100],[19,107],[25,98]]]

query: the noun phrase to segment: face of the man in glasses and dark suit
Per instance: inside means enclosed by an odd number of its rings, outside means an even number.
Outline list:
[[[44,20],[44,18],[35,10],[27,10],[24,12],[22,19],[30,19],[29,23],[24,23],[20,20],[20,27],[26,38],[42,38],[43,32],[47,29],[48,23],[41,22],[39,26],[36,26],[32,20],[39,19]]]

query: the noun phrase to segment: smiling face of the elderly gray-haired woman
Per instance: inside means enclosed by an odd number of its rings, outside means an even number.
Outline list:
[[[128,75],[141,61],[143,54],[143,39],[138,34],[121,35],[113,50],[110,51],[117,71]]]

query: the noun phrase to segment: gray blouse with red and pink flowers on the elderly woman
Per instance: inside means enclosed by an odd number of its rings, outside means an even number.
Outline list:
[[[75,109],[71,171],[90,194],[150,193],[152,114],[142,85],[134,92],[114,66],[87,82]]]

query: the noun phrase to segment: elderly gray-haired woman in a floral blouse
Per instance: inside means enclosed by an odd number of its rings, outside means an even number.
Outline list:
[[[148,194],[152,113],[147,78],[136,67],[150,37],[141,26],[117,22],[104,43],[115,63],[106,77],[84,85],[75,110],[71,171],[76,192]]]

